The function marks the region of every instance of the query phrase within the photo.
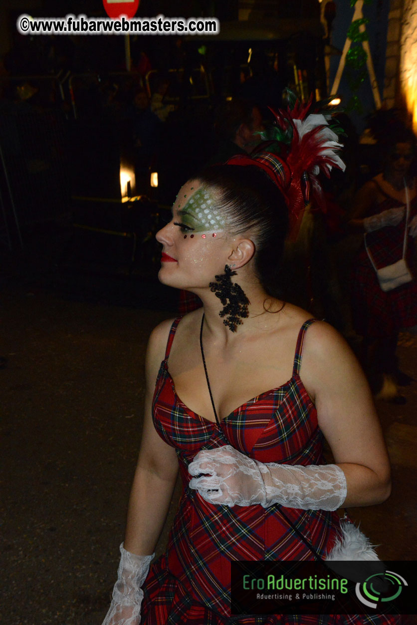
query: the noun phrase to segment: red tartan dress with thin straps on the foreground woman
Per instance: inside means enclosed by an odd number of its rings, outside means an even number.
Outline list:
[[[306,321],[298,336],[293,376],[286,384],[253,397],[221,421],[221,430],[191,411],[174,388],[168,357],[180,319],[169,333],[153,399],[154,426],[176,448],[183,492],[164,555],[144,584],[142,625],[331,625],[398,623],[398,617],[366,616],[241,616],[230,620],[231,560],[313,560],[308,547],[294,537],[279,506],[215,506],[188,488],[188,465],[201,449],[227,444],[261,462],[324,464],[323,434],[316,409],[299,377]],[[333,546],[336,512],[286,508],[299,531],[323,555]],[[375,617],[373,617],[375,618]],[[381,620],[382,618],[382,620]],[[236,620],[235,620],[236,619]]]

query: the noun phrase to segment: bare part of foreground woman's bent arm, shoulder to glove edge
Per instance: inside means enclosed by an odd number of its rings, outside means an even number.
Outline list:
[[[344,505],[381,503],[391,492],[381,426],[364,373],[333,327],[324,322],[309,327],[300,375],[316,404],[334,462],[346,476]]]

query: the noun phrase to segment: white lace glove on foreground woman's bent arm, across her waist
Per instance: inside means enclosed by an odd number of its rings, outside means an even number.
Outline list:
[[[336,510],[347,493],[346,477],[336,464],[264,464],[230,445],[199,451],[188,472],[204,474],[189,482],[203,499],[230,507],[278,503],[303,510]]]

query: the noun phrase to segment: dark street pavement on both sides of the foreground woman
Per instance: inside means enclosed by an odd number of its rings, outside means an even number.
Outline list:
[[[170,316],[161,306],[77,301],[5,282],[0,306],[0,356],[8,359],[0,370],[0,622],[5,625],[101,624],[139,447],[146,341]],[[417,338],[401,334],[398,353],[403,371],[417,379]],[[380,557],[416,560],[417,382],[405,387],[404,395],[403,406],[378,402],[393,493],[379,506],[349,513],[380,544]],[[167,529],[159,553],[166,536]]]

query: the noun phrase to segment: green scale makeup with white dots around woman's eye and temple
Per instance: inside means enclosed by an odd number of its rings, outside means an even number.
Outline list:
[[[201,186],[191,196],[184,196],[186,204],[183,207],[181,207],[181,199],[179,198],[176,209],[184,226],[192,228],[194,232],[224,230],[223,218],[219,210],[216,209],[213,196],[207,189]]]

